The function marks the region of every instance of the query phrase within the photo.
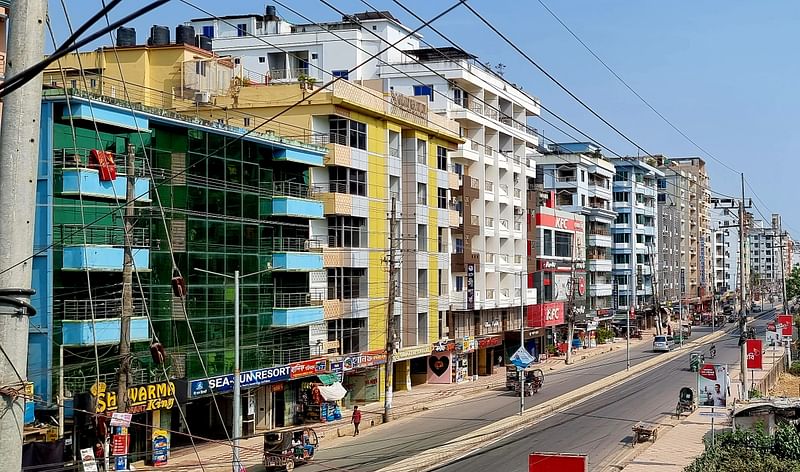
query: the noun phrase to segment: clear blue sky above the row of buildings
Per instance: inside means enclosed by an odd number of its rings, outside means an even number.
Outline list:
[[[74,25],[101,5],[100,0],[63,0]],[[339,14],[318,0],[280,0],[314,21],[334,21]],[[327,0],[348,12],[368,11],[361,1]],[[412,28],[415,20],[390,0],[368,0],[389,10]],[[455,0],[399,0],[422,18],[431,18]],[[69,35],[62,0],[49,0],[56,41]],[[800,238],[800,206],[788,189],[800,170],[793,159],[793,131],[800,123],[796,93],[800,62],[795,54],[800,29],[800,2],[774,0],[541,0],[634,90],[677,128],[672,129],[626,89],[541,5],[540,0],[470,0],[469,4],[503,31],[539,65],[625,133],[647,153],[672,157],[699,156],[708,165],[715,192],[739,196],[739,173],[748,183],[753,209],[767,218],[781,213],[784,229]],[[145,2],[123,0],[111,20]],[[268,0],[172,0],[130,26],[139,41],[149,26],[173,29],[190,18],[263,13]],[[289,21],[305,23],[276,5]],[[104,23],[101,21],[101,24]],[[539,97],[542,104],[622,155],[641,153],[616,134],[495,33],[459,6],[434,23],[455,43],[491,64],[505,64],[505,77]],[[424,39],[434,46],[447,41],[429,29]],[[52,44],[50,37],[46,43]],[[106,39],[93,46],[109,44]],[[51,48],[52,49],[52,48]],[[91,49],[87,47],[87,49]],[[553,117],[543,112],[548,121]],[[572,141],[550,125],[533,126],[557,141]],[[724,163],[724,165],[722,164]],[[732,169],[732,170],[731,170]]]

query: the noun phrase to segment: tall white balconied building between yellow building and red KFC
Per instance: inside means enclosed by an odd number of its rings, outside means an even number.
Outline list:
[[[539,114],[538,99],[464,51],[421,48],[418,35],[356,68],[368,57],[365,54],[409,33],[386,12],[323,25],[293,25],[270,8],[263,17],[227,18],[222,23],[205,18],[190,24],[198,32],[213,34],[214,51],[230,55],[252,83],[341,77],[367,84],[382,79],[377,88],[389,93],[389,103],[380,106],[398,110],[413,103],[415,109],[423,107],[458,123],[466,142],[451,157],[464,185],[453,195],[461,219],[449,244],[451,303],[443,334],[450,339],[489,336],[472,357],[478,373],[488,373],[498,356],[482,346],[492,346],[504,332],[518,336],[519,307],[536,301],[530,277],[526,287],[518,281],[522,273],[533,272],[535,263],[528,254],[534,252],[535,218],[530,212],[538,197],[532,179],[539,139],[527,120]],[[255,75],[247,75],[251,72]],[[408,102],[411,96],[417,99]]]

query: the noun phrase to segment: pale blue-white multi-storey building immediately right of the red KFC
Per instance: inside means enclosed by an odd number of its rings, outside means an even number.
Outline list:
[[[616,219],[611,181],[614,164],[591,143],[550,146],[537,157],[537,182],[555,192],[559,210],[583,215],[586,229],[587,318],[608,317],[612,310],[611,225]]]

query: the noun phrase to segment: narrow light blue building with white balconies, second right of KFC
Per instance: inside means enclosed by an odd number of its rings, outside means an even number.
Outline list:
[[[613,274],[618,286],[617,306],[623,314],[635,311],[647,325],[653,311],[654,273],[658,265],[657,180],[664,173],[655,158],[611,159],[614,175]]]

